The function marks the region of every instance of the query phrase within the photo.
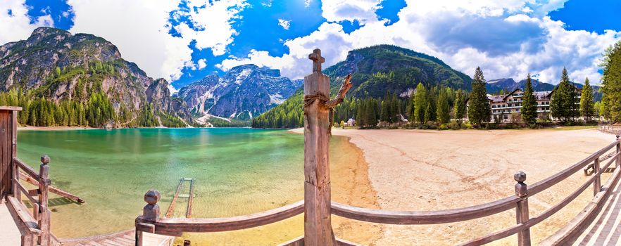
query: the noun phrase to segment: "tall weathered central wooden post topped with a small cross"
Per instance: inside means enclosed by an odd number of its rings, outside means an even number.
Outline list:
[[[304,77],[304,245],[337,245],[330,211],[330,78],[321,72],[321,51],[316,48],[313,73]],[[308,103],[307,103],[308,102]]]

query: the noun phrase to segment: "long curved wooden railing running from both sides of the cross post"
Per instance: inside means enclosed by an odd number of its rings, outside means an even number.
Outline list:
[[[541,180],[530,186],[527,186],[525,183],[526,174],[521,171],[517,172],[513,176],[517,182],[515,184],[515,195],[482,205],[439,211],[411,212],[367,209],[332,202],[332,214],[348,219],[380,224],[423,225],[444,224],[467,221],[470,219],[479,219],[515,208],[515,226],[504,228],[501,231],[490,233],[489,235],[485,235],[481,238],[475,238],[474,240],[463,243],[463,245],[482,245],[506,238],[513,234],[517,234],[518,245],[531,245],[529,230],[532,226],[541,223],[541,221],[544,221],[560,209],[563,209],[563,207],[572,202],[572,200],[575,200],[575,198],[586,190],[586,188],[593,186],[594,199],[589,203],[589,205],[587,205],[584,211],[578,214],[576,218],[570,222],[570,224],[565,226],[565,228],[544,240],[544,244],[565,245],[567,242],[575,240],[575,237],[577,237],[579,233],[582,233],[584,228],[589,225],[591,222],[589,218],[593,218],[594,214],[599,211],[601,205],[606,200],[606,197],[610,194],[610,188],[613,187],[619,180],[621,173],[621,170],[618,168],[621,163],[620,148],[621,141],[617,138],[617,141],[610,143],[605,148],[589,155],[584,158],[584,160],[581,160],[576,164],[567,167],[563,171],[560,171],[557,174],[549,176],[547,179]],[[613,154],[607,155],[607,152],[610,150],[613,151]],[[607,157],[606,159],[609,159],[608,162],[601,165],[600,160],[603,159],[601,157]],[[615,171],[613,172],[613,175],[610,176],[608,181],[601,186],[601,174],[603,174],[603,171],[608,169],[613,162],[615,163]],[[529,218],[528,198],[553,187],[560,181],[563,181],[569,176],[581,171],[589,164],[593,164],[595,170],[594,174],[590,176],[589,179],[587,179],[581,186],[579,186],[579,188],[553,207],[546,209],[537,216]],[[137,242],[140,242],[139,239],[142,237],[142,232],[180,236],[182,233],[187,232],[208,233],[218,231],[234,231],[263,226],[265,224],[274,223],[301,214],[304,207],[303,201],[299,201],[291,205],[269,210],[267,212],[229,218],[161,219],[159,218],[159,206],[157,205],[159,199],[160,194],[157,190],[149,190],[149,192],[145,194],[145,201],[149,204],[144,207],[143,215],[138,216],[135,221]],[[291,243],[291,245],[299,245],[299,243],[301,242],[296,241]]]

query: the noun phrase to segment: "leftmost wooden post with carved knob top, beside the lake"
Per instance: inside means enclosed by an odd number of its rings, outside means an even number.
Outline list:
[[[49,156],[41,157],[41,166],[39,167],[39,228],[42,231],[39,237],[39,245],[50,244],[50,211],[47,208],[48,190],[51,181],[49,179]]]

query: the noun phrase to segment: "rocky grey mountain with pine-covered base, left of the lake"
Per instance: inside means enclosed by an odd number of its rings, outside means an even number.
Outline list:
[[[183,101],[151,79],[110,42],[39,27],[0,46],[0,105],[20,106],[32,126],[185,127]]]

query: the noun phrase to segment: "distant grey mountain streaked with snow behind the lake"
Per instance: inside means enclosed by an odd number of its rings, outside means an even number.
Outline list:
[[[280,70],[249,64],[233,67],[222,77],[208,75],[184,86],[177,96],[196,117],[246,120],[282,103],[302,84],[302,80],[281,77]]]

